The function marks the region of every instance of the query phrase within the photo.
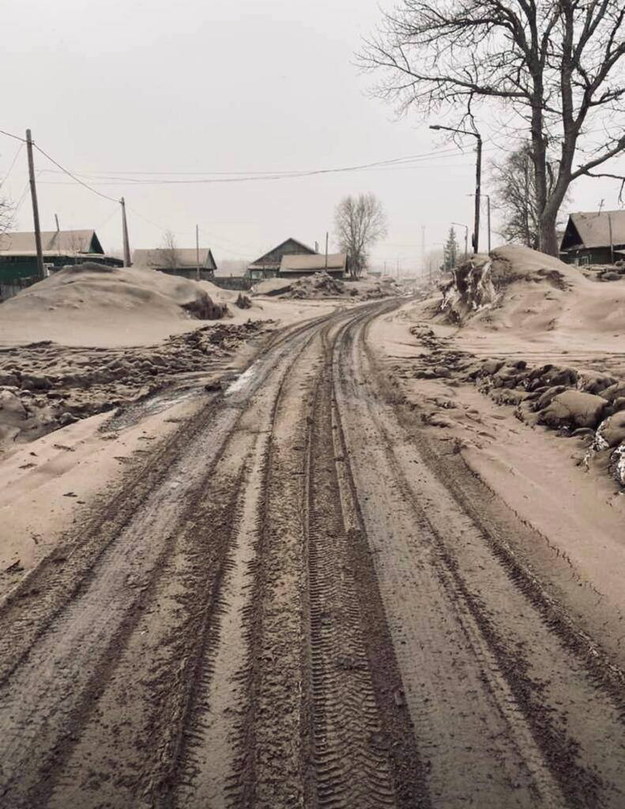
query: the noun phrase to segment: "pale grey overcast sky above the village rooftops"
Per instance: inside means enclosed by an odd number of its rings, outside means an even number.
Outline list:
[[[388,6],[392,0],[382,0]],[[402,271],[470,225],[474,154],[450,149],[426,121],[398,119],[355,66],[379,21],[378,0],[20,0],[3,8],[0,128],[33,138],[106,196],[125,196],[131,247],[201,241],[251,260],[288,236],[314,246],[345,195],[371,191],[389,234],[379,265]],[[486,122],[484,122],[486,126]],[[0,137],[0,177],[18,142]],[[341,168],[442,152],[412,164],[281,180],[181,183],[266,171]],[[497,150],[487,141],[486,157]],[[95,228],[121,246],[119,206],[55,173],[36,154],[43,229]],[[120,178],[120,174],[124,176]],[[134,180],[128,174],[134,173]],[[166,174],[168,173],[168,174]],[[164,183],[164,180],[178,182]],[[4,185],[32,228],[22,149]],[[139,181],[139,182],[137,182]],[[488,181],[484,190],[488,192]],[[609,181],[576,186],[572,210],[617,207]],[[496,219],[496,213],[495,213]],[[460,229],[461,231],[461,229]],[[461,231],[462,232],[462,231]],[[485,234],[483,235],[483,239]]]

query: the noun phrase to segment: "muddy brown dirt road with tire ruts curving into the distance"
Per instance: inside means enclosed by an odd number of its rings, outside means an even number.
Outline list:
[[[1,806],[625,806],[622,673],[398,417],[394,305],[285,331],[0,607]]]

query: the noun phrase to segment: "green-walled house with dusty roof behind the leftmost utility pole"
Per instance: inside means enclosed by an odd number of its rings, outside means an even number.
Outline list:
[[[110,267],[122,267],[123,261],[104,253],[95,230],[50,230],[41,234],[44,271],[66,264],[95,261]],[[35,234],[31,231],[4,233],[0,236],[0,299],[16,295],[20,289],[40,281],[37,270]]]

